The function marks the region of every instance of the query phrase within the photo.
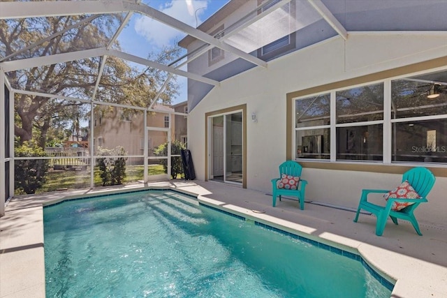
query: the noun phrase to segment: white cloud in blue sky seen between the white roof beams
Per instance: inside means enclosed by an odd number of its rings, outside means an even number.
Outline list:
[[[197,24],[201,23],[200,15],[203,15],[205,10],[200,8],[207,8],[207,4],[207,0],[171,0],[166,1],[164,5],[157,9],[185,24],[189,24],[191,27],[196,27]],[[138,17],[135,20],[135,31],[156,47],[169,45],[184,36],[184,32],[146,16]]]

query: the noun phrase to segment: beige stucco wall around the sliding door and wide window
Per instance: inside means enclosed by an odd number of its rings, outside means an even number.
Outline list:
[[[286,159],[286,94],[341,80],[383,72],[444,57],[447,66],[447,33],[353,33],[348,40],[332,38],[293,52],[268,68],[257,67],[221,82],[189,112],[189,149],[196,176],[205,179],[205,113],[247,104],[247,188],[271,192],[270,179],[277,177]],[[290,124],[291,125],[291,124]],[[393,167],[393,165],[390,165]],[[430,203],[416,211],[420,221],[447,226],[447,167],[437,169]],[[305,168],[309,181],[307,200],[357,207],[362,188],[393,188],[401,174],[319,170]],[[243,198],[241,198],[242,200]]]

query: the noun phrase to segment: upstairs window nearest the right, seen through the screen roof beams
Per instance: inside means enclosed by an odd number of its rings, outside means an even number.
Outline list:
[[[261,0],[258,0],[258,4],[260,4]],[[274,6],[277,4],[279,0],[274,0],[263,6],[261,10],[258,10],[258,13],[262,13],[264,10]],[[284,12],[291,16],[291,12],[293,13],[294,4],[289,2],[282,6],[280,9],[284,10]],[[286,52],[293,50],[295,48],[295,32],[287,34],[277,40],[274,40],[272,43],[268,45],[264,45],[260,49],[258,49],[258,57],[263,60],[270,60],[274,57],[277,57],[281,54],[285,54]]]

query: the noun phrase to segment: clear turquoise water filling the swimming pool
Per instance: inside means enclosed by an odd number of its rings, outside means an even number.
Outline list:
[[[391,295],[355,257],[173,191],[45,207],[44,231],[47,297]]]

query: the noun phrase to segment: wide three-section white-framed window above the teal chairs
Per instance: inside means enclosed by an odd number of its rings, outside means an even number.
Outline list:
[[[295,154],[447,163],[447,70],[297,98]]]

